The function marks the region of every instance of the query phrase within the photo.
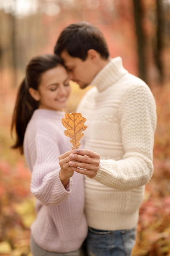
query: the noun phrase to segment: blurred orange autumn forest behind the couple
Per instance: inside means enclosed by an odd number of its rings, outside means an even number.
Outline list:
[[[155,97],[155,170],[132,256],[170,256],[170,0],[0,0],[0,255],[31,256],[31,173],[24,157],[10,149],[18,85],[29,59],[52,53],[60,31],[79,20],[102,30],[110,56],[121,56]],[[67,112],[76,110],[86,90],[72,84]]]

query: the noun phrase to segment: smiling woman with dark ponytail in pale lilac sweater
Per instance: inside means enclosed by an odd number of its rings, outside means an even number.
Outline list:
[[[70,93],[68,73],[58,56],[31,59],[18,90],[11,130],[16,130],[13,148],[24,153],[32,172],[37,211],[31,226],[33,256],[79,256],[87,235],[84,177],[58,160],[71,148],[61,122]]]

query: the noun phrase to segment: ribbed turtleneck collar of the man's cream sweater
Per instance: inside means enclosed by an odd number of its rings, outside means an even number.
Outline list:
[[[97,90],[102,92],[127,73],[128,71],[122,65],[121,57],[112,58],[95,76],[91,85],[95,85]]]

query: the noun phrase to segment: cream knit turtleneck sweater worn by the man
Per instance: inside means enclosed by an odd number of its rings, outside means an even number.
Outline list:
[[[77,108],[87,119],[82,145],[100,154],[97,175],[85,179],[88,225],[130,229],[137,225],[145,184],[153,173],[155,100],[141,79],[129,74],[120,57],[93,79]]]

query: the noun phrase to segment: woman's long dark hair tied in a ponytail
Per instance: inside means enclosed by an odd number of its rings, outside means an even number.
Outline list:
[[[55,54],[44,54],[32,58],[26,66],[26,76],[18,89],[17,99],[13,111],[11,135],[15,128],[16,140],[11,148],[19,148],[23,154],[23,141],[26,126],[28,125],[34,110],[39,106],[29,93],[29,88],[38,90],[41,82],[41,75],[57,65],[63,65],[62,60]]]

